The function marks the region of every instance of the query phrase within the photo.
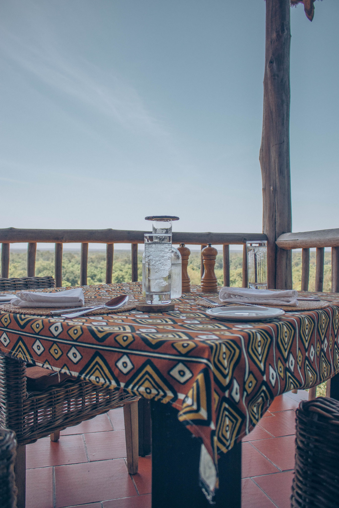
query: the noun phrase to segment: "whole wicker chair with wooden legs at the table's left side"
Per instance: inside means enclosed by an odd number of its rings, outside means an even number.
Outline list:
[[[24,277],[25,281],[28,278]],[[49,287],[54,287],[54,279],[49,277],[49,280]],[[26,363],[0,354],[0,425],[12,429],[18,443],[15,463],[17,508],[25,506],[26,444],[49,434],[51,440],[57,441],[60,430],[116,407],[124,408],[127,466],[128,471],[135,474],[138,471],[138,397],[76,378],[28,392]]]

